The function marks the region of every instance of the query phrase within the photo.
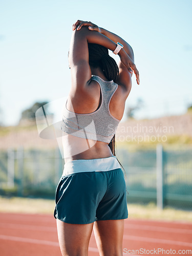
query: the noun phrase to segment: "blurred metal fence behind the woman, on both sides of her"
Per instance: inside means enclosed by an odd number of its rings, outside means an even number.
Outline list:
[[[127,202],[155,202],[192,209],[192,147],[118,148],[125,169]],[[0,195],[54,198],[64,161],[58,149],[0,152]]]

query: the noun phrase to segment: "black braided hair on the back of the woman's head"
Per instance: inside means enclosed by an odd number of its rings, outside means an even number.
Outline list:
[[[97,44],[88,44],[89,65],[93,68],[100,67],[108,80],[115,81],[119,75],[119,68],[114,58],[109,55],[108,48]]]

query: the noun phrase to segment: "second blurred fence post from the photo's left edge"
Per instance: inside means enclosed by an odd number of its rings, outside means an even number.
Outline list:
[[[17,148],[17,161],[18,161],[18,190],[17,194],[19,197],[23,196],[24,190],[24,148]]]

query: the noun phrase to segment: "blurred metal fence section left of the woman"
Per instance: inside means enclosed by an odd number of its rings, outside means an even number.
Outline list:
[[[63,164],[58,149],[2,151],[0,195],[53,198]]]

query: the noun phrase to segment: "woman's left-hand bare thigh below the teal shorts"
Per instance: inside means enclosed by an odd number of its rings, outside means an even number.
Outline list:
[[[91,224],[69,224],[57,219],[57,233],[62,255],[87,256],[93,229]]]

